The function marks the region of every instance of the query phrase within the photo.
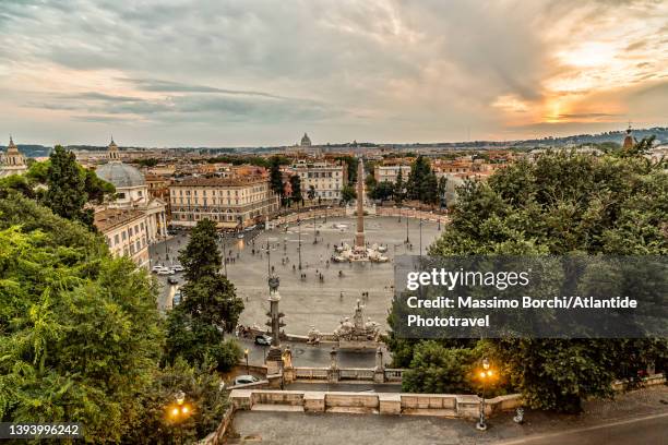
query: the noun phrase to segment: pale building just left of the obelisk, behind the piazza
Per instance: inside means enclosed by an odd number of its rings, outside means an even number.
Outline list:
[[[348,168],[344,163],[310,161],[299,159],[289,168],[291,175],[301,179],[301,194],[306,200],[311,185],[315,199],[338,201],[346,184]]]

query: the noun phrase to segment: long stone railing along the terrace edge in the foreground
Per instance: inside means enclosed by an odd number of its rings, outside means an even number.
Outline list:
[[[234,409],[271,410],[272,406],[301,407],[305,412],[360,412],[380,414],[437,416],[474,419],[481,399],[475,395],[344,393],[310,390],[234,389]],[[518,394],[486,399],[489,416],[512,410],[522,405]],[[276,408],[281,410],[281,408]]]

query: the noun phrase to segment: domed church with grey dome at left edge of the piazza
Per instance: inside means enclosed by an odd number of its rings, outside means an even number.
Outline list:
[[[114,140],[107,153],[109,161],[95,170],[100,179],[116,187],[116,196],[114,201],[107,203],[107,207],[143,212],[146,216],[146,234],[150,243],[167,237],[165,202],[148,193],[146,179],[141,171],[118,160],[118,146]]]

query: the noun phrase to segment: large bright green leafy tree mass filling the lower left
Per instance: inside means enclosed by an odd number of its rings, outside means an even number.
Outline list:
[[[0,418],[81,422],[88,442],[123,442],[162,351],[155,281],[31,200],[0,208],[15,212],[0,216]]]

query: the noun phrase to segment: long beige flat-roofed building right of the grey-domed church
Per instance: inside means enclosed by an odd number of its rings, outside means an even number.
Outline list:
[[[211,219],[220,229],[262,222],[281,205],[263,177],[187,178],[169,185],[169,199],[174,225]]]

